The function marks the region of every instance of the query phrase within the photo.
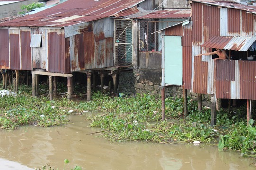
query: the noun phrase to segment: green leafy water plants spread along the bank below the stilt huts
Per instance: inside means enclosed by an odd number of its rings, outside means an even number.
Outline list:
[[[65,91],[65,87],[60,91]],[[256,126],[247,125],[246,106],[231,113],[219,110],[217,125],[210,126],[211,110],[198,112],[197,102],[188,99],[189,114],[183,117],[183,99],[165,99],[165,121],[161,121],[161,97],[137,94],[135,97],[110,97],[92,93],[91,101],[73,101],[65,96],[48,101],[47,85],[40,86],[40,96],[32,97],[31,87],[20,86],[16,95],[0,97],[0,127],[16,129],[22,125],[41,127],[68,123],[69,114],[83,110],[97,111],[88,118],[91,127],[102,128],[102,136],[110,141],[142,141],[157,143],[195,142],[215,144],[219,150],[240,151],[256,157]],[[73,112],[69,110],[74,110]],[[253,115],[255,110],[252,111]]]

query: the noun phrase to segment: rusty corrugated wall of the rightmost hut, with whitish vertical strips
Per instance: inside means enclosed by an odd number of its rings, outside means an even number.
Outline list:
[[[212,50],[201,47],[201,44],[212,36],[255,36],[256,17],[239,9],[218,8],[193,2],[191,21],[192,40],[185,37],[188,34],[183,36],[185,88],[195,93],[215,93],[217,98],[256,100],[256,61],[217,60],[213,62],[210,56],[196,56]],[[191,48],[187,47],[190,42]],[[185,44],[188,45],[185,46]],[[186,56],[189,53],[191,55]],[[192,67],[188,67],[189,62]],[[189,86],[190,74],[191,87]]]

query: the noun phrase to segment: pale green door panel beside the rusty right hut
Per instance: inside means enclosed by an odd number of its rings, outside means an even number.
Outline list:
[[[180,36],[165,36],[165,84],[182,85],[182,45]]]

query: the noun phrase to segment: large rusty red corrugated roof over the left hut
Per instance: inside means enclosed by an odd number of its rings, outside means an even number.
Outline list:
[[[37,14],[26,15],[6,21],[1,23],[0,26],[71,26],[82,22],[115,16],[119,12],[132,8],[143,1],[145,0],[68,0]],[[73,16],[81,17],[72,18]],[[70,20],[64,19],[67,17]]]

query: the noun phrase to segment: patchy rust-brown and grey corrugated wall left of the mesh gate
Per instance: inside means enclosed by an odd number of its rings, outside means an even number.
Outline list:
[[[85,33],[70,37],[71,70],[82,71],[114,65],[114,23],[104,18],[88,25]]]

